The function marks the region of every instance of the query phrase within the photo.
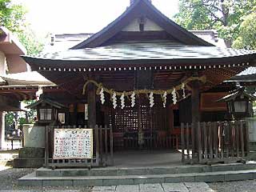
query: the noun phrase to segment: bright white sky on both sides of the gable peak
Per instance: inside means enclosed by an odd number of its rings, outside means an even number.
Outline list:
[[[130,0],[16,0],[28,13],[31,28],[40,34],[96,33],[114,21]],[[168,18],[178,13],[178,0],[152,0]]]

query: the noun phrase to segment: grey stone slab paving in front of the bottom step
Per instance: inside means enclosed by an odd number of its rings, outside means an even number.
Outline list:
[[[91,192],[214,192],[205,182],[94,186]]]

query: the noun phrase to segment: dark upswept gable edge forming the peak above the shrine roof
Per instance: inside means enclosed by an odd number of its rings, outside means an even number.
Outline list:
[[[166,30],[172,37],[177,39],[186,45],[194,46],[214,46],[209,42],[198,38],[196,35],[190,33],[188,30],[178,26],[175,22],[171,21],[158,9],[156,9],[152,3],[147,0],[137,0],[127,10],[119,16],[114,22],[106,26],[104,29],[94,34],[85,41],[73,46],[71,49],[83,49],[88,47],[103,46],[110,38],[113,38],[115,34],[121,31],[125,26],[132,22],[135,18],[146,17],[155,22],[163,30]]]

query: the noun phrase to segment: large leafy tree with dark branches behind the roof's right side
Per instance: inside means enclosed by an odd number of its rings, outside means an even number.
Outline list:
[[[242,16],[254,12],[255,0],[181,0],[176,21],[188,30],[218,30],[226,46],[238,38]]]

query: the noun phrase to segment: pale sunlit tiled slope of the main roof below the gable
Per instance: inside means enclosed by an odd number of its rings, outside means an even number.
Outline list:
[[[123,42],[111,46],[44,53],[37,58],[52,60],[134,60],[180,58],[228,58],[256,54],[254,50],[234,50],[216,46],[186,46],[175,42]]]

